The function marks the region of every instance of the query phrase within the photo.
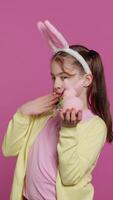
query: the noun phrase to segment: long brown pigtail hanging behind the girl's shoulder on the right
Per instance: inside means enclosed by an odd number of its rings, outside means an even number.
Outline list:
[[[113,141],[112,117],[110,103],[107,98],[102,60],[96,51],[90,50],[88,54],[90,56],[90,66],[94,77],[91,88],[88,90],[88,103],[92,111],[105,121],[108,129],[107,141],[111,143]]]

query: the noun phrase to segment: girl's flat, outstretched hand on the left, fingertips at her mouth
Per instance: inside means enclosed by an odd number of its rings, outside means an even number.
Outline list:
[[[59,95],[50,94],[38,97],[33,101],[29,101],[22,105],[18,111],[24,115],[40,115],[56,108],[56,103],[59,100]]]

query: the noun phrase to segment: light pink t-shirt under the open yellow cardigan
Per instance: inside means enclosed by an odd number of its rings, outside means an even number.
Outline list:
[[[82,122],[93,116],[90,110],[86,110],[82,113]],[[51,117],[29,152],[23,189],[23,195],[28,200],[56,200],[57,143],[60,127],[59,114]]]

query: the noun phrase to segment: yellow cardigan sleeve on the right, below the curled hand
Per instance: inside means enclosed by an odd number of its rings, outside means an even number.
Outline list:
[[[61,127],[57,152],[64,185],[75,185],[80,181],[92,168],[105,143],[107,127],[104,121],[85,123],[82,128]],[[79,134],[83,134],[83,137],[79,137]]]

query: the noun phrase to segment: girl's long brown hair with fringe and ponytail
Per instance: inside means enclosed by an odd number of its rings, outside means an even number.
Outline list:
[[[110,104],[107,97],[104,68],[101,57],[99,53],[97,53],[96,51],[89,50],[88,48],[82,45],[71,45],[69,46],[69,48],[79,52],[83,56],[85,61],[88,63],[92,71],[93,81],[87,90],[88,107],[91,108],[93,113],[99,115],[105,121],[107,126],[107,142],[112,143],[113,141],[112,118],[110,113]],[[54,54],[51,58],[51,62],[54,60],[60,63],[62,70],[72,75],[73,70],[69,70],[69,68],[66,69],[66,67],[63,66],[65,57],[71,58],[71,60],[73,61],[72,66],[76,64],[81,74],[85,73],[79,61],[76,60],[76,58],[74,58],[73,56],[63,51],[59,51],[56,54]]]

